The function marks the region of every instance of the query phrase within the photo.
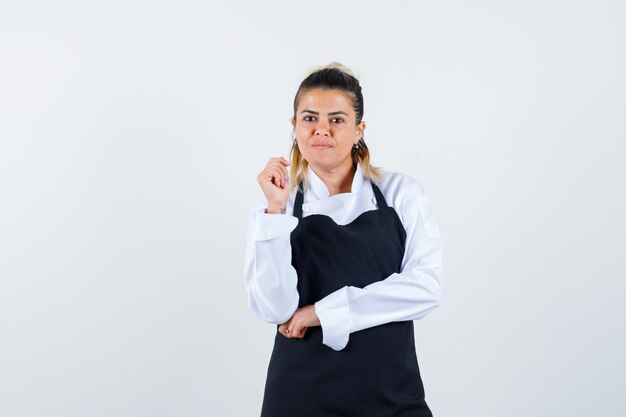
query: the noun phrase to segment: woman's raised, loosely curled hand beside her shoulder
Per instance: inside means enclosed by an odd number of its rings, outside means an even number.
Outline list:
[[[282,207],[287,207],[289,200],[289,174],[287,167],[291,162],[282,156],[270,158],[263,171],[257,176],[257,182],[267,199],[267,212],[280,213]]]

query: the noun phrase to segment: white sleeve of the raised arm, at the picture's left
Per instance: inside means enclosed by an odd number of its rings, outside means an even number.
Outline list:
[[[291,231],[298,218],[265,213],[265,201],[250,210],[244,281],[248,308],[261,320],[282,324],[298,308],[298,278],[291,265]]]

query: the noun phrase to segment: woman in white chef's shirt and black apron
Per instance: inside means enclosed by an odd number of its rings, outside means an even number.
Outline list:
[[[349,70],[314,71],[294,100],[291,161],[257,177],[248,306],[277,325],[262,417],[432,416],[413,320],[441,301],[441,238],[422,185],[370,165],[362,118]]]

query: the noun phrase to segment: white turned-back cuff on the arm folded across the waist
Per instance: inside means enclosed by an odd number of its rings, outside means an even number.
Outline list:
[[[348,287],[330,293],[315,303],[315,312],[322,326],[322,343],[334,350],[341,350],[350,338],[350,309]]]

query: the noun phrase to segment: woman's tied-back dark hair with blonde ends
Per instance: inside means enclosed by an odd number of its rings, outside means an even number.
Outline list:
[[[300,83],[296,97],[293,101],[293,114],[296,117],[298,103],[302,95],[315,88],[327,90],[339,90],[346,93],[352,100],[352,107],[356,113],[356,124],[361,123],[363,119],[363,93],[359,80],[354,76],[352,71],[339,62],[331,62],[328,65],[316,67],[309,72],[307,77]],[[358,149],[352,148],[352,162],[361,166],[361,172],[372,182],[380,184],[383,180],[383,169],[372,166],[370,163],[370,152],[363,140],[363,135],[358,142]],[[291,151],[289,153],[291,166],[289,172],[289,185],[295,188],[302,183],[302,189],[308,187],[308,166],[309,163],[303,158],[297,141],[294,139]]]

